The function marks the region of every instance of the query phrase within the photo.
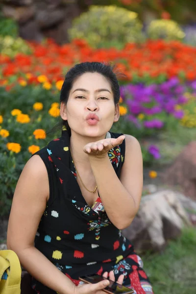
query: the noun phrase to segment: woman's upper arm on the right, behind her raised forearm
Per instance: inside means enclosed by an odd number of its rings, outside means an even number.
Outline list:
[[[133,197],[138,211],[143,190],[143,158],[138,140],[125,135],[125,157],[120,180]]]

